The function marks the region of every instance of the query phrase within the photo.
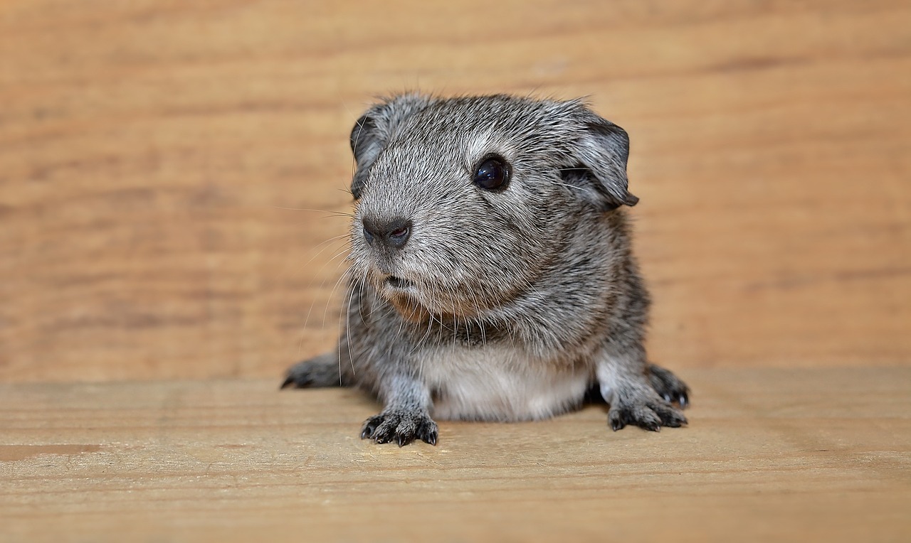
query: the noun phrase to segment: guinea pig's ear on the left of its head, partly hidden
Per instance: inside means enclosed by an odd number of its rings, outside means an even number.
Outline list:
[[[376,157],[380,155],[389,139],[394,136],[404,120],[421,110],[431,98],[412,93],[394,96],[376,104],[357,119],[351,130],[351,150],[356,163],[351,181],[351,194],[357,200],[370,175]]]

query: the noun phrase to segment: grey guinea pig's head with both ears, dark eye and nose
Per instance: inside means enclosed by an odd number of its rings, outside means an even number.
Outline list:
[[[406,318],[476,318],[561,273],[627,191],[626,133],[578,101],[397,96],[353,127],[350,261]]]

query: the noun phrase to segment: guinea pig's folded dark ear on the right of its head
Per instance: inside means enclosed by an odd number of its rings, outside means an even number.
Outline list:
[[[582,188],[604,210],[635,206],[639,198],[627,191],[630,136],[608,120],[587,113],[573,153],[578,166],[564,170],[564,180]]]

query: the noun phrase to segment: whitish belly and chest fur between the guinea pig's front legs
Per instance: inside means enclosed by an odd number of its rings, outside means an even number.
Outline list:
[[[578,406],[590,378],[502,347],[440,352],[424,361],[421,376],[438,391],[433,417],[499,421],[547,418]]]

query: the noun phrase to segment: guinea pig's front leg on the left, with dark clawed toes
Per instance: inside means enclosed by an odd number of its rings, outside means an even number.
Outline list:
[[[430,390],[415,379],[403,375],[386,377],[380,391],[384,399],[383,412],[363,423],[361,438],[377,443],[395,441],[399,447],[415,439],[436,445],[436,423],[428,413]]]

